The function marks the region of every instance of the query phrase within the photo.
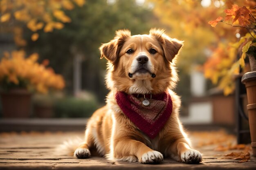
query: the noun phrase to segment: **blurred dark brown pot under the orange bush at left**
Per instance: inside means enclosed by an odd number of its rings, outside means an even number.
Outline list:
[[[1,93],[2,111],[5,118],[27,118],[31,113],[31,93],[26,89],[12,89]]]

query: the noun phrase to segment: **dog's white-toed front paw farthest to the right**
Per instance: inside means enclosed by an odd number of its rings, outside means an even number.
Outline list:
[[[193,149],[186,150],[180,155],[182,163],[200,163],[202,161],[202,154]]]

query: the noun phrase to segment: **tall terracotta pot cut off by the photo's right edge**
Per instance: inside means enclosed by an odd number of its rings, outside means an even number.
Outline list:
[[[242,82],[245,84],[247,92],[252,152],[253,156],[256,156],[256,71],[245,73]]]

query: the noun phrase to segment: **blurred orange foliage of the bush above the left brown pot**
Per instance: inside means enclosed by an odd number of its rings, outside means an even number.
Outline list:
[[[5,53],[5,55],[9,54]],[[16,85],[23,81],[40,93],[47,93],[49,89],[63,89],[65,86],[63,77],[54,73],[52,68],[39,64],[37,60],[37,53],[25,58],[24,51],[13,51],[10,58],[3,57],[0,61],[0,85],[3,81]]]

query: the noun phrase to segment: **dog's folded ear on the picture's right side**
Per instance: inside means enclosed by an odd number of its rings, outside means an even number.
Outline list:
[[[150,35],[157,39],[164,50],[164,56],[169,62],[173,61],[173,58],[179,53],[183,46],[183,41],[179,41],[175,38],[170,38],[164,30],[151,29]]]

